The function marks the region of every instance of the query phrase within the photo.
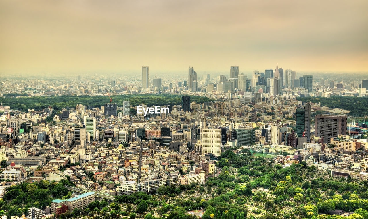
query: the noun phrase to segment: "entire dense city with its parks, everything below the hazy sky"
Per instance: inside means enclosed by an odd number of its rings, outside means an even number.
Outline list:
[[[4,78],[1,215],[367,216],[362,75],[316,80],[278,64],[251,76],[189,67],[184,80],[149,71]]]

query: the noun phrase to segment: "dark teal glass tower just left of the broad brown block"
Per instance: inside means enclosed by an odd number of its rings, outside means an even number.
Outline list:
[[[298,107],[296,109],[296,133],[298,137],[305,137],[307,141],[311,141],[310,122],[311,105],[305,104],[304,107]]]

